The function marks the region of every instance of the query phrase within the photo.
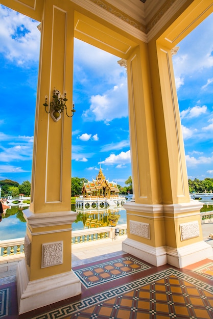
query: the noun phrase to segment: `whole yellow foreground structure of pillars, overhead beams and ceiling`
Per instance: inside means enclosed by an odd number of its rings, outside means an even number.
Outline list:
[[[213,12],[213,0],[0,3],[41,23],[31,204],[25,210],[25,260],[17,267],[19,313],[81,294],[70,244],[77,215],[70,209],[75,116],[59,114],[56,103],[59,92],[73,100],[74,37],[119,57],[127,68],[134,200],[124,204],[123,251],[156,267],[183,268],[212,256],[202,236],[202,204],[188,191],[172,55]]]

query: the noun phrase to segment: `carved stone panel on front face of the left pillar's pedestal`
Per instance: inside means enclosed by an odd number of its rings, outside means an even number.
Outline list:
[[[42,244],[41,268],[63,263],[63,242]]]

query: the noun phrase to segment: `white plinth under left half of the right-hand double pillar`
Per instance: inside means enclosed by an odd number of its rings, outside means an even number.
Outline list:
[[[122,243],[122,250],[159,267],[167,263],[167,250],[164,246],[152,247],[130,238]]]

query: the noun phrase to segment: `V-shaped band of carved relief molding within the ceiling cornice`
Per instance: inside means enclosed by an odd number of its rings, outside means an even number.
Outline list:
[[[98,5],[99,7],[103,8],[107,12],[115,15],[116,17],[120,18],[121,20],[129,23],[134,28],[148,34],[151,29],[156,25],[156,23],[160,20],[160,18],[170,9],[170,7],[176,2],[176,0],[167,0],[161,6],[161,8],[154,14],[152,19],[147,23],[147,25],[136,21],[135,19],[128,16],[126,13],[122,12],[121,10],[117,9],[116,7],[110,5],[105,0],[90,0],[92,3]],[[144,2],[144,1],[143,1]]]

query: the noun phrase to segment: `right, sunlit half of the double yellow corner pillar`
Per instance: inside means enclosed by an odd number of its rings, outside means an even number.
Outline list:
[[[167,262],[182,268],[212,255],[203,241],[200,209],[191,201],[176,94],[171,49],[160,41],[150,44],[159,168]],[[158,71],[156,72],[156,65]]]

